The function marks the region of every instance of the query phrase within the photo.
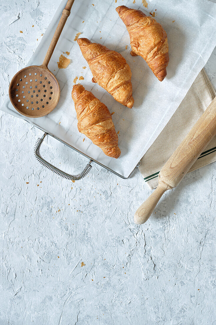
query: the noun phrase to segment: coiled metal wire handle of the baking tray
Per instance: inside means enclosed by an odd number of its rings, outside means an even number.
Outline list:
[[[84,168],[84,170],[78,174],[78,175],[70,175],[67,174],[65,172],[63,172],[61,169],[58,169],[57,167],[53,166],[51,163],[47,162],[45,159],[42,158],[41,154],[40,154],[40,147],[42,145],[42,142],[45,138],[45,136],[47,135],[47,133],[44,133],[44,135],[41,138],[38,138],[36,144],[35,144],[35,148],[34,148],[34,155],[36,157],[36,159],[46,168],[50,169],[51,171],[53,171],[55,174],[62,176],[63,178],[69,179],[69,180],[79,180],[83,177],[85,177],[90,169],[92,168],[91,166],[91,162],[92,160],[90,160],[90,162],[86,165],[86,167]]]

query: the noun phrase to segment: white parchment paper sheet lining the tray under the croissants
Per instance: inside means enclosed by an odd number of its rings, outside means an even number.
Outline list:
[[[133,0],[75,0],[48,66],[61,86],[61,97],[57,107],[42,118],[26,118],[13,108],[7,97],[2,110],[30,122],[120,175],[128,177],[172,117],[216,45],[216,5],[213,2],[208,0],[147,2],[148,7],[145,7],[141,0],[136,0],[135,3]],[[42,64],[65,4],[66,0],[61,2],[28,65]],[[167,32],[170,62],[167,77],[163,82],[158,81],[144,59],[130,55],[128,32],[115,11],[119,5],[140,9],[147,15],[155,12],[155,19]],[[92,84],[88,64],[77,42],[74,41],[78,32],[81,32],[79,37],[87,37],[92,42],[101,43],[125,57],[132,71],[135,102],[131,110],[116,102],[100,86]],[[70,52],[69,56],[63,54],[66,51]],[[71,59],[71,63],[66,69],[59,70],[57,61],[61,54]],[[112,118],[116,132],[119,131],[119,147],[122,151],[117,160],[105,156],[101,149],[78,132],[76,112],[71,99],[76,76],[84,77],[84,80],[77,80],[77,83],[82,83],[107,105],[111,113],[114,112]]]

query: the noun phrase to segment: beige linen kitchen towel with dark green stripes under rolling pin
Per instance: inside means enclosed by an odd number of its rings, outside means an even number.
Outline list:
[[[216,93],[202,69],[174,115],[141,159],[139,167],[150,189],[158,186],[158,174],[187,133],[207,109]],[[209,143],[189,172],[216,161],[216,137]]]

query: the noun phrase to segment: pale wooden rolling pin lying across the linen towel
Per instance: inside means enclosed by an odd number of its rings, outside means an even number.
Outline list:
[[[212,100],[197,123],[174,151],[159,173],[158,187],[140,205],[134,215],[136,224],[146,222],[163,193],[176,187],[194,164],[211,139],[216,135],[216,97]]]

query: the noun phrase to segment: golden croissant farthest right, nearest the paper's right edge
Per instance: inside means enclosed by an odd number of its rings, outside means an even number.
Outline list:
[[[140,55],[146,60],[158,80],[162,81],[169,63],[167,34],[163,27],[141,10],[119,6],[116,11],[129,32],[130,54]]]

